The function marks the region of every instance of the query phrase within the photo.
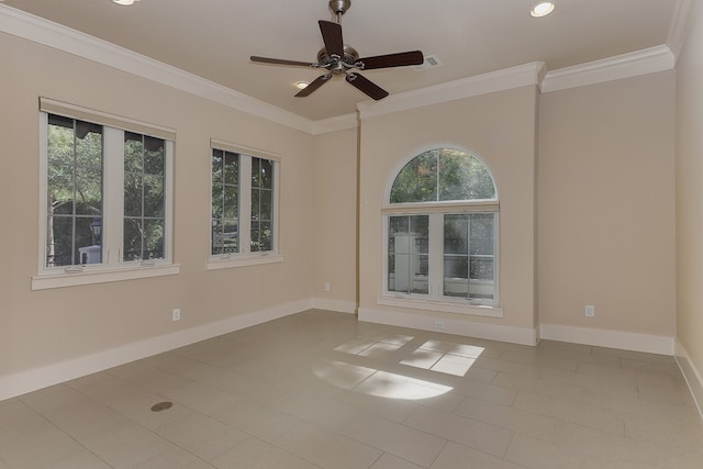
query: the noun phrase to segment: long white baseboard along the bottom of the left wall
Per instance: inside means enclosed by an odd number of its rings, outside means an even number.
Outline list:
[[[203,324],[189,330],[126,344],[58,364],[47,365],[45,367],[20,371],[12,375],[0,376],[0,401],[71,379],[80,378],[86,375],[102,371],[119,365],[124,365],[141,358],[150,357],[152,355],[183,347],[196,342],[306,311],[312,306],[312,299],[295,301],[267,310],[228,317],[210,324]]]

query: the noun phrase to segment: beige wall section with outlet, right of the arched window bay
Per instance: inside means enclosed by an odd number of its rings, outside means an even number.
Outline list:
[[[540,323],[676,335],[673,96],[673,71],[542,96]]]

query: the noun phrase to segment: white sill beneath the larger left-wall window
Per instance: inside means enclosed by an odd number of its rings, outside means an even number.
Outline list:
[[[150,277],[174,276],[180,272],[180,264],[126,265],[119,267],[90,267],[81,271],[56,271],[32,277],[32,290],[77,287],[82,284],[105,283],[121,280],[144,279]]]

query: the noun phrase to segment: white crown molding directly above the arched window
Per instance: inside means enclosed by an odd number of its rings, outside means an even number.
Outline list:
[[[536,86],[539,85],[544,76],[544,62],[533,62],[419,90],[391,94],[382,101],[360,102],[357,104],[357,109],[360,118],[367,119],[495,91]]]

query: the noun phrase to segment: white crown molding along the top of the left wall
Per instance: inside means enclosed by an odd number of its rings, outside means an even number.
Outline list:
[[[77,55],[288,127],[313,133],[313,121],[179,68],[30,13],[0,4],[0,32]]]

